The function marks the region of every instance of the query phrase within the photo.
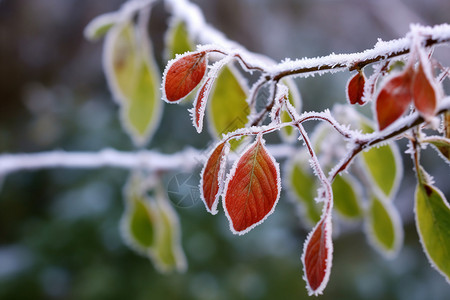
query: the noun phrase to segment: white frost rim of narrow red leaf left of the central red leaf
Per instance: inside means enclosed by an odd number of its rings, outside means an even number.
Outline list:
[[[217,143],[214,146],[213,150],[209,153],[208,157],[211,157],[214,150],[216,150],[217,146],[220,145],[221,143],[223,143],[223,142],[220,141],[219,143]],[[225,142],[225,146],[222,149],[221,158],[220,158],[220,162],[219,162],[219,173],[217,174],[217,182],[219,184],[219,189],[217,190],[217,194],[214,196],[215,199],[214,199],[213,205],[211,206],[211,209],[209,209],[208,204],[206,203],[205,195],[203,194],[203,175],[205,174],[206,165],[208,164],[209,159],[205,162],[205,165],[202,168],[202,172],[200,173],[200,184],[199,184],[200,199],[202,199],[203,204],[205,204],[206,210],[209,213],[211,213],[212,215],[215,215],[218,212],[217,205],[219,204],[219,199],[220,199],[220,196],[222,195],[222,191],[223,191],[223,187],[224,187],[225,171],[226,171],[226,166],[227,166],[227,156],[228,156],[229,152],[230,152],[230,144],[228,142]]]

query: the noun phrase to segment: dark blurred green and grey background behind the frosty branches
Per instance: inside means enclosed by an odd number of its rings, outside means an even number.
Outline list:
[[[0,0],[0,153],[53,149],[134,150],[118,120],[101,69],[102,42],[84,26],[123,1]],[[276,60],[371,48],[403,36],[409,23],[449,22],[447,0],[197,0],[208,22],[252,51]],[[162,69],[167,14],[158,2],[150,32]],[[436,55],[450,65],[448,48]],[[345,102],[348,72],[297,80],[305,110]],[[447,81],[448,82],[448,81]],[[447,87],[448,93],[448,87]],[[173,120],[176,120],[175,122]],[[169,137],[169,138],[168,138]],[[206,148],[186,107],[165,105],[149,148]],[[405,145],[400,144],[402,150]],[[449,198],[449,169],[424,152],[424,165]],[[334,265],[321,299],[448,299],[450,286],[431,269],[412,222],[412,167],[396,199],[405,245],[387,261],[349,226],[335,238]],[[118,224],[128,171],[42,170],[0,178],[0,299],[305,299],[300,255],[307,230],[286,195],[276,212],[245,236],[193,196],[197,173],[167,173],[180,216],[189,269],[161,275],[122,242]],[[191,176],[192,175],[192,176]],[[170,188],[174,178],[180,190]],[[450,259],[450,258],[449,258]]]

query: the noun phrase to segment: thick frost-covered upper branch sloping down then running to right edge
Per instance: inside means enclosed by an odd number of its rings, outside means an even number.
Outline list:
[[[252,53],[242,45],[227,39],[221,32],[206,23],[197,5],[187,0],[165,0],[173,16],[184,20],[189,32],[201,43],[224,47],[234,53],[239,60],[251,69],[270,74],[275,82],[292,75],[309,76],[343,70],[356,70],[366,65],[408,54],[414,36],[420,36],[425,47],[450,42],[450,25],[441,24],[434,27],[411,25],[411,30],[404,38],[391,41],[378,41],[372,49],[349,54],[331,54],[323,57],[286,60],[274,64],[273,60],[261,54]],[[269,80],[269,79],[268,79]]]

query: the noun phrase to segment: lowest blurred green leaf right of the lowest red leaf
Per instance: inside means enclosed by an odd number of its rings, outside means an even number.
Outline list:
[[[400,250],[403,231],[395,207],[382,198],[373,196],[367,212],[366,233],[370,244],[387,258]]]

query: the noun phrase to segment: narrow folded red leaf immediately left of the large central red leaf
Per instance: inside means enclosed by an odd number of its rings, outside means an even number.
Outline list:
[[[213,215],[217,213],[217,204],[223,189],[226,156],[229,148],[227,142],[220,143],[209,156],[201,174],[201,198],[206,209]]]

